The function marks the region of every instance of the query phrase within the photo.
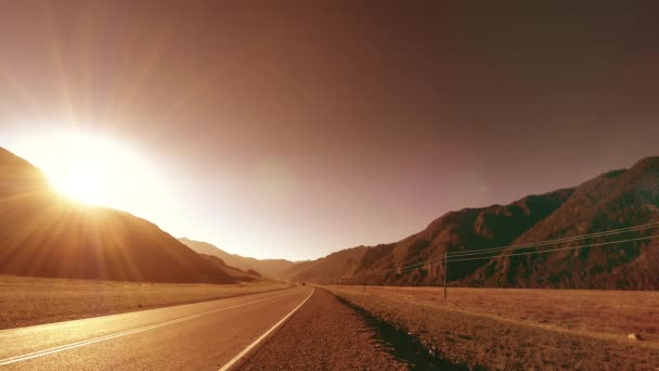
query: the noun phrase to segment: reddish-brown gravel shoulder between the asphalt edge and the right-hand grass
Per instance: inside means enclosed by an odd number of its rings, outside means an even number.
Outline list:
[[[408,370],[333,294],[313,296],[238,370]]]

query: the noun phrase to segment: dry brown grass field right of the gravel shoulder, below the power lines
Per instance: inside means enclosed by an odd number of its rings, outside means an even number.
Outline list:
[[[471,367],[659,370],[659,292],[326,289]]]

